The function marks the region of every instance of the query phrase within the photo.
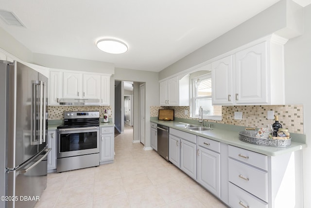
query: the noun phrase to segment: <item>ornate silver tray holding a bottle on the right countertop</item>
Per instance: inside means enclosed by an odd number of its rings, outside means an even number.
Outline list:
[[[254,145],[267,147],[288,147],[291,145],[291,138],[289,139],[263,139],[256,138],[257,131],[242,131],[239,132],[239,139]]]

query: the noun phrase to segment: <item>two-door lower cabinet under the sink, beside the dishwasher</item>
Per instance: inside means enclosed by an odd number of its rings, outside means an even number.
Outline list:
[[[196,135],[170,129],[169,160],[196,180]]]

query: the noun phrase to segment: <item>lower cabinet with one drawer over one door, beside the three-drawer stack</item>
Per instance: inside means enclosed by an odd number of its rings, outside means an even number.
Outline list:
[[[197,181],[220,197],[220,142],[198,137]]]

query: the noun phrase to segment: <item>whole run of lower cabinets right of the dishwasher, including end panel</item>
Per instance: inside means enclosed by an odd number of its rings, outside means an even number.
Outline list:
[[[170,128],[169,160],[230,208],[303,207],[302,150],[269,156]]]

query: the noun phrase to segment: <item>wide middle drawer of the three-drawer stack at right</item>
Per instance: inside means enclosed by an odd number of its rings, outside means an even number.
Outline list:
[[[231,158],[228,178],[233,184],[268,202],[268,173]]]

